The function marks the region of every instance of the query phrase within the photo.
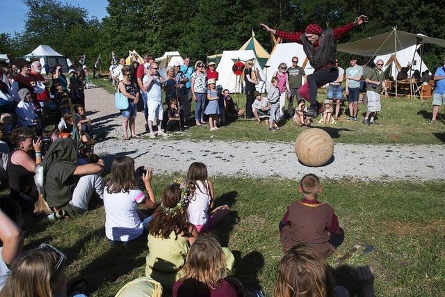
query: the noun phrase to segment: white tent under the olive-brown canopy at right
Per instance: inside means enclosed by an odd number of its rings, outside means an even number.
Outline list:
[[[397,73],[401,70],[401,67],[407,67],[408,65],[411,66],[411,71],[408,72],[408,74],[412,74],[414,70],[423,72],[428,70],[428,67],[426,67],[425,63],[423,63],[421,57],[417,53],[417,49],[419,49],[419,47],[420,45],[412,45],[406,49],[397,51],[397,58],[394,55],[394,52],[391,54],[376,56],[374,58],[374,63],[377,63],[378,60],[383,60],[383,70],[385,71],[387,70],[387,67],[391,67],[391,73],[389,76],[393,77],[393,79],[396,79]]]

